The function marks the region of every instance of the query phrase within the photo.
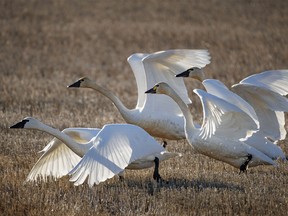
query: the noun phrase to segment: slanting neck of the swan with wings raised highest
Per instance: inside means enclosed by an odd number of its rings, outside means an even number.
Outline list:
[[[85,84],[85,87],[94,89],[94,90],[100,92],[101,94],[105,95],[107,98],[109,98],[114,103],[114,105],[117,107],[117,109],[119,110],[119,112],[121,113],[122,117],[125,119],[126,122],[132,121],[131,110],[129,110],[126,106],[124,106],[124,104],[121,102],[121,100],[116,95],[114,95],[110,90],[105,89],[105,88],[97,85],[93,81],[88,81]]]

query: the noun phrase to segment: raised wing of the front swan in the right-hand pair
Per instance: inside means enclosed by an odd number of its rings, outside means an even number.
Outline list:
[[[251,136],[257,124],[243,110],[203,90],[195,89],[203,107],[201,133],[203,139],[212,135],[234,140]]]

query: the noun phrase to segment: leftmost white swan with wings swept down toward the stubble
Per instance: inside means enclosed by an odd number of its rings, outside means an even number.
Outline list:
[[[92,187],[123,172],[124,169],[155,166],[153,178],[159,182],[159,162],[181,156],[166,151],[142,128],[131,124],[107,124],[102,129],[68,129],[61,132],[35,118],[26,117],[10,128],[36,129],[59,139],[51,141],[44,148],[44,154],[34,165],[34,172],[31,171],[28,181],[51,174],[54,177],[70,174],[70,181],[74,182],[74,185],[83,184],[88,177],[88,184]],[[96,135],[91,138],[91,134]],[[89,137],[91,139],[88,142],[78,141]],[[58,175],[54,169],[64,172]]]

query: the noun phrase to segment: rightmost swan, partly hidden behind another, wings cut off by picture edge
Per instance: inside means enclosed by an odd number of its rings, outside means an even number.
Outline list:
[[[285,159],[282,149],[275,145],[278,140],[285,139],[285,117],[288,111],[288,70],[271,70],[251,75],[232,86],[230,91],[222,82],[205,79],[200,68],[191,68],[176,77],[190,77],[202,81],[207,92],[223,100],[229,101],[241,109],[250,106],[247,113],[256,114],[259,130],[245,140],[273,159]],[[253,111],[254,110],[254,111]]]

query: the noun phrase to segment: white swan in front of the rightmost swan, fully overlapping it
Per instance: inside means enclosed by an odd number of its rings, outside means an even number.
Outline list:
[[[160,82],[146,93],[166,94],[179,105],[185,119],[186,138],[197,152],[239,168],[240,173],[246,172],[248,166],[276,165],[264,153],[240,141],[245,137],[243,134],[250,136],[257,124],[237,106],[195,89],[204,114],[202,126],[197,128],[187,105],[167,83]]]

